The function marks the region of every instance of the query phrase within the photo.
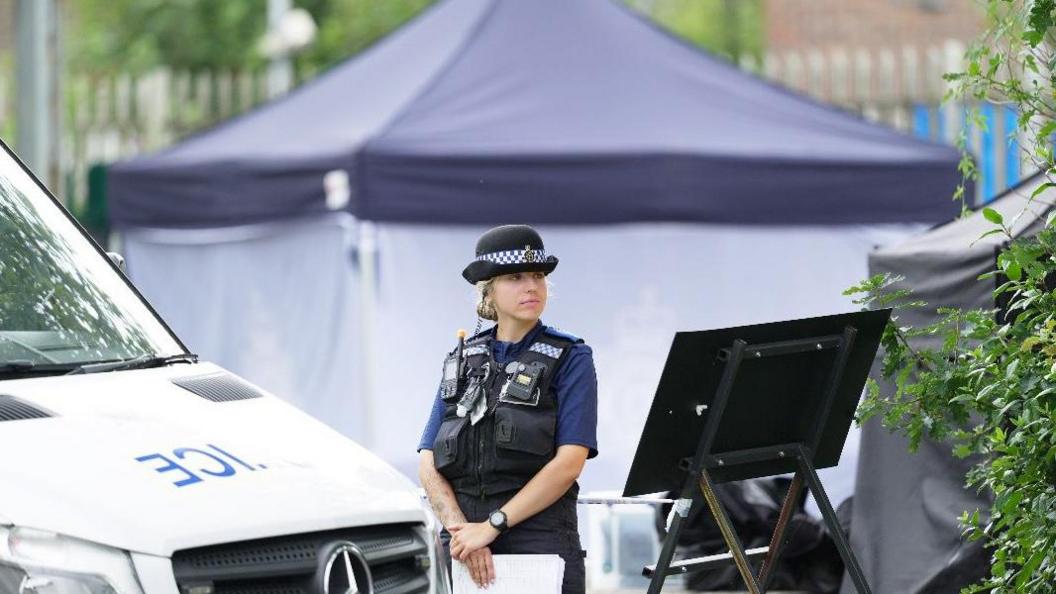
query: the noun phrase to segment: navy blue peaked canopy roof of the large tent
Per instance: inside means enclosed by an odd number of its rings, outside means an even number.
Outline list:
[[[935,223],[958,154],[754,78],[617,2],[446,0],[289,95],[114,166],[119,227],[327,211],[490,224]]]

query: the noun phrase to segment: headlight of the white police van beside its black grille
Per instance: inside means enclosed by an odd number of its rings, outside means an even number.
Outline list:
[[[128,553],[52,532],[0,527],[2,594],[143,594]]]

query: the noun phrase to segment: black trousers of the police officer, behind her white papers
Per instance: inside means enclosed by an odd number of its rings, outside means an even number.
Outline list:
[[[485,499],[455,494],[458,506],[470,522],[487,521],[489,514],[502,507],[512,497],[512,493]],[[578,523],[576,496],[569,493],[546,509],[498,535],[489,547],[493,555],[560,555],[565,561],[562,594],[585,594],[586,570],[583,557],[586,552],[580,545]],[[440,539],[450,558],[451,535],[444,531]]]

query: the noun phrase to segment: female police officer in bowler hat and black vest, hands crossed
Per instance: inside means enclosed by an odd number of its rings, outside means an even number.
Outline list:
[[[527,225],[484,234],[463,277],[495,326],[445,359],[418,446],[418,475],[473,580],[495,579],[491,554],[557,554],[564,594],[585,590],[577,479],[598,454],[590,348],[540,321],[558,259]]]

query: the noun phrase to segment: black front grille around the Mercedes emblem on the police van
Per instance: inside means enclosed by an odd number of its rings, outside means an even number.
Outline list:
[[[371,568],[374,594],[429,591],[429,550],[417,524],[369,526],[215,544],[177,551],[172,571],[181,592],[211,584],[215,594],[321,594],[323,550],[352,542]]]

